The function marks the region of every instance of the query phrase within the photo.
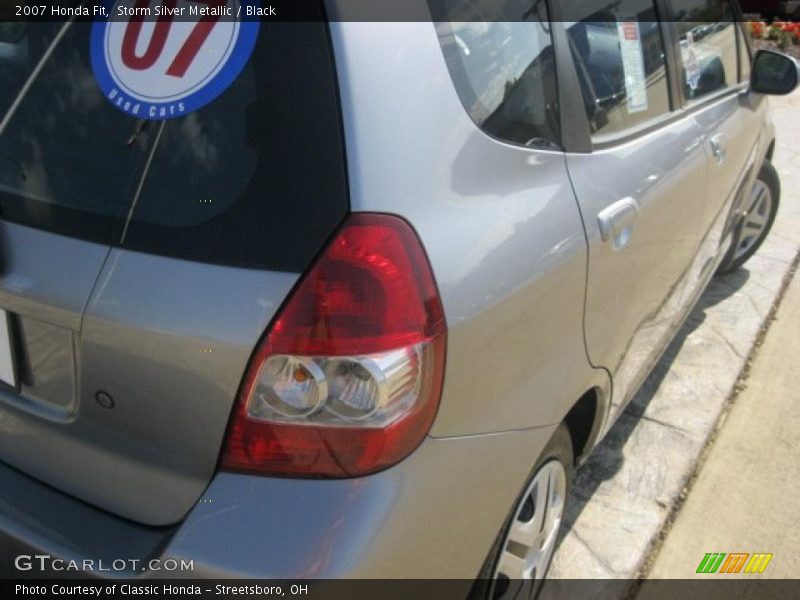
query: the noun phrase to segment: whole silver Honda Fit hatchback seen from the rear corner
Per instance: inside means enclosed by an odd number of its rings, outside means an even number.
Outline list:
[[[0,25],[4,572],[545,575],[798,69],[728,0],[484,4]]]

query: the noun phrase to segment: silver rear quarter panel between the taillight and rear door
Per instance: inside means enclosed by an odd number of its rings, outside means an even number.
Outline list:
[[[431,23],[334,23],[356,211],[417,230],[448,323],[431,435],[558,423],[598,378],[582,317],[586,240],[560,152],[484,134]]]

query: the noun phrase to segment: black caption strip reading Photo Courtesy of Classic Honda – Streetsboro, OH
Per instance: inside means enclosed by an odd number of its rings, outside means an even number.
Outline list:
[[[0,598],[308,598],[324,600],[480,598],[488,582],[466,580],[4,580]],[[534,589],[507,582],[500,597],[528,598]],[[726,578],[676,580],[554,579],[539,600],[785,600],[800,598],[800,580]]]

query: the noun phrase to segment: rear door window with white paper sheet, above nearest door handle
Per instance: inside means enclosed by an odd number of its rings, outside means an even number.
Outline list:
[[[566,11],[593,136],[616,135],[671,110],[653,0],[588,0]]]

